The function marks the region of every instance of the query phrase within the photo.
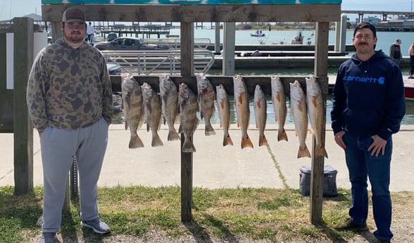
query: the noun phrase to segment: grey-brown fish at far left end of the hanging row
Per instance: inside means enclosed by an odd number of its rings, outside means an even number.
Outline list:
[[[144,143],[139,138],[137,130],[144,121],[144,106],[142,103],[142,92],[139,83],[130,73],[121,75],[123,80],[121,90],[123,94],[123,113],[125,117],[125,130],[130,127],[130,149],[142,148]]]

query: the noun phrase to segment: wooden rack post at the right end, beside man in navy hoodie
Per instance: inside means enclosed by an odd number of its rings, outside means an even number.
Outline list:
[[[327,96],[327,54],[329,22],[316,23],[315,37],[315,76],[320,77],[322,82],[323,100],[326,104]],[[326,114],[326,105],[323,111]],[[326,116],[326,115],[324,115]],[[325,118],[326,120],[326,118]],[[325,126],[322,127],[322,143],[325,144]],[[312,171],[311,171],[311,223],[318,225],[322,223],[322,193],[323,193],[323,168],[324,157],[315,157],[315,135],[312,136]]]

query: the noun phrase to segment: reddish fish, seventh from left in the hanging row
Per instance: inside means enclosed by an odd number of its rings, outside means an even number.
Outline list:
[[[253,148],[249,135],[247,135],[247,129],[249,128],[250,121],[249,94],[247,93],[246,84],[244,83],[242,76],[234,76],[233,85],[237,127],[240,127],[242,130],[242,149],[245,147]]]

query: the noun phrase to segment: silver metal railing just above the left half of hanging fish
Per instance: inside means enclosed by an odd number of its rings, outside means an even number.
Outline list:
[[[158,75],[180,73],[181,53],[178,49],[151,51],[102,51],[108,63],[116,63],[128,73]],[[207,73],[214,64],[214,54],[194,49],[194,73]]]

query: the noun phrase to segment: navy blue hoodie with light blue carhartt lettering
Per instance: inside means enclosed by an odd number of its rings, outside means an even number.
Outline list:
[[[406,113],[400,68],[382,51],[368,61],[354,54],[339,66],[331,111],[334,134],[379,135],[387,140]]]

